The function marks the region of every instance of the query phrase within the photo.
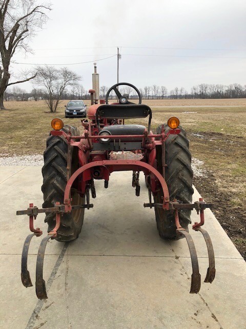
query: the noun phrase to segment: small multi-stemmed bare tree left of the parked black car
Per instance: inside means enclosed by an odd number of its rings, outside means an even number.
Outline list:
[[[80,77],[67,67],[60,69],[54,66],[37,67],[34,84],[44,87],[44,99],[50,112],[56,112],[58,103],[66,87],[77,86]]]

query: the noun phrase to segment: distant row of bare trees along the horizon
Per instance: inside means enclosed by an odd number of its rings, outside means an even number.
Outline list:
[[[76,78],[78,79],[78,77]],[[41,85],[44,84],[44,81],[40,81]],[[56,84],[56,90],[53,92],[48,92],[45,88],[34,87],[31,92],[27,92],[25,89],[14,86],[8,88],[4,93],[4,100],[17,100],[17,101],[28,101],[28,100],[44,100],[54,99],[90,99],[90,94],[85,87],[79,83],[73,83],[71,88],[66,89],[67,85],[63,90],[60,89],[60,86],[57,81],[58,79],[53,80],[53,84]],[[36,79],[34,79],[35,84]],[[50,85],[53,87],[53,85]],[[100,87],[100,98],[105,98],[109,88],[107,86]],[[133,92],[131,87],[120,88],[120,93],[122,95],[127,94],[129,98],[136,99],[138,95]],[[139,88],[140,95],[143,99],[208,99],[208,98],[246,98],[246,85],[242,86],[238,83],[233,83],[230,85],[222,84],[206,84],[201,83],[197,86],[191,88],[190,93],[183,87],[175,87],[171,89],[170,92],[165,86],[146,86],[144,88]],[[52,94],[52,95],[51,95]],[[115,99],[116,95],[113,93],[110,94],[111,99]]]

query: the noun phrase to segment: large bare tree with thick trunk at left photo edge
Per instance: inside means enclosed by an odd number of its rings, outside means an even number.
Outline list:
[[[35,0],[0,1],[0,108],[5,109],[3,96],[7,86],[22,83],[35,78],[32,74],[25,79],[9,83],[12,57],[16,50],[30,51],[28,40],[35,35],[37,28],[42,28],[47,21],[46,11],[49,5],[36,5]]]

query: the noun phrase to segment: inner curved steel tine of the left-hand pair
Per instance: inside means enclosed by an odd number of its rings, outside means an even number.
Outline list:
[[[45,258],[45,248],[47,242],[54,234],[47,235],[41,241],[38,254],[37,254],[37,265],[36,265],[36,295],[38,299],[47,299],[47,292],[45,286],[45,280],[43,279],[43,268],[44,268],[44,258]]]

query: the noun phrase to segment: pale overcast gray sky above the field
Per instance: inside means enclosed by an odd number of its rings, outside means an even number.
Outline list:
[[[199,83],[246,84],[245,0],[51,3],[50,20],[30,43],[34,55],[16,53],[16,62],[65,64],[83,77],[81,84],[89,89],[93,61],[115,55],[118,46],[122,56],[119,82],[138,88],[183,86],[189,92]],[[87,61],[92,63],[66,65]],[[13,64],[12,71],[16,74],[27,67],[31,66]],[[97,67],[100,85],[117,82],[116,56],[97,61]],[[32,88],[30,83],[19,87]]]

